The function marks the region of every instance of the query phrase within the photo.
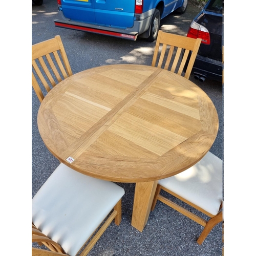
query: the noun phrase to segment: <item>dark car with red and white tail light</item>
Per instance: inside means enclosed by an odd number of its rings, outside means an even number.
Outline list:
[[[208,0],[194,18],[187,36],[202,38],[198,55],[191,71],[196,79],[222,82],[223,0]]]

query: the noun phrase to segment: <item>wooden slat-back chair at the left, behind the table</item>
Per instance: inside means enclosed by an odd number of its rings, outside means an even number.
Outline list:
[[[71,75],[72,70],[59,35],[32,45],[32,86],[40,102],[57,83]],[[45,93],[38,82],[44,86]]]

